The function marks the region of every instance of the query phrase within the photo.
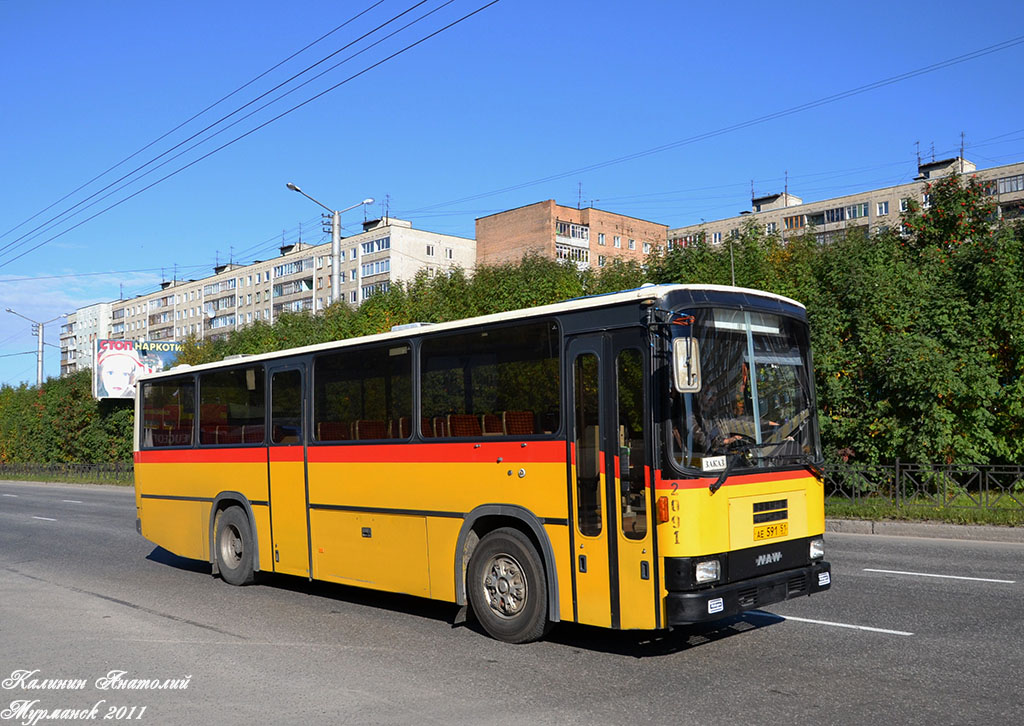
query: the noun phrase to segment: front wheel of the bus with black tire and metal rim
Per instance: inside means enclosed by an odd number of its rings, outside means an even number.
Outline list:
[[[480,540],[469,562],[468,591],[477,622],[496,640],[529,643],[548,631],[544,565],[518,529],[502,527]]]

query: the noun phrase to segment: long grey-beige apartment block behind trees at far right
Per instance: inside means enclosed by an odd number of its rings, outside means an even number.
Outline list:
[[[899,224],[900,212],[906,211],[910,200],[927,207],[928,184],[951,173],[977,177],[992,198],[999,217],[1024,216],[1024,163],[979,170],[974,163],[957,157],[920,164],[913,181],[870,191],[809,203],[787,193],[755,198],[751,210],[735,217],[670,229],[669,243],[687,245],[706,236],[709,243],[718,245],[739,237],[746,224],[783,239],[813,229],[820,242],[854,228],[885,231]]]

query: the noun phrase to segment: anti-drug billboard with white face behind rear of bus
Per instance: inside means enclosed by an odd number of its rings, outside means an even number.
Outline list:
[[[138,377],[169,369],[180,350],[181,343],[173,340],[97,340],[92,394],[96,398],[134,398]]]

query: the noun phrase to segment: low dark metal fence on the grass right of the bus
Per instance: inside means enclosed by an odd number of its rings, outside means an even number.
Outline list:
[[[897,507],[1024,509],[1024,467],[839,464],[825,469],[825,497]]]

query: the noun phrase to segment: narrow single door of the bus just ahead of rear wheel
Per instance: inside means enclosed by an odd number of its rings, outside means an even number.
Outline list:
[[[305,366],[269,369],[273,571],[309,575]]]

